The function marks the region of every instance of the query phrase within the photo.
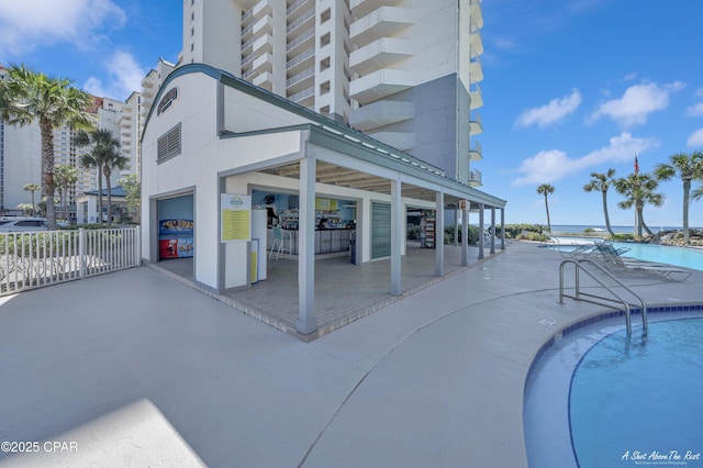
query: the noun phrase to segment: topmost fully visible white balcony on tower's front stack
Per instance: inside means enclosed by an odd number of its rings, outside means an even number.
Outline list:
[[[413,11],[399,7],[381,7],[349,26],[349,38],[364,47],[381,37],[392,37],[415,24]]]

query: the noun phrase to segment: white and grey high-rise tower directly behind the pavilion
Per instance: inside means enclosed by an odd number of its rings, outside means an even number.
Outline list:
[[[183,0],[179,65],[221,68],[480,186],[482,26],[481,0]]]

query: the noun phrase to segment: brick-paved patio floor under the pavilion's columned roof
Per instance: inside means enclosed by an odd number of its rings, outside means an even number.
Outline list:
[[[486,248],[487,258],[489,247]],[[498,249],[500,253],[501,250]],[[468,248],[468,266],[461,266],[461,248],[445,245],[444,276],[435,276],[435,250],[409,243],[402,257],[403,293],[390,293],[390,259],[354,265],[349,256],[320,258],[315,260],[315,316],[317,332],[312,336],[295,331],[298,319],[298,260],[281,256],[268,260],[267,279],[249,289],[228,292],[217,297],[212,291],[198,287],[192,281],[192,258],[159,261],[154,268],[186,282],[196,289],[216,297],[222,302],[257,317],[281,331],[309,341],[369,315],[395,301],[435,285],[473,265],[477,265],[479,248]]]

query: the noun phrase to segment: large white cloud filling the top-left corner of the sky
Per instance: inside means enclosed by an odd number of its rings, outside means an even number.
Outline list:
[[[0,55],[64,42],[86,47],[107,25],[121,27],[125,21],[112,0],[5,0],[0,2]]]

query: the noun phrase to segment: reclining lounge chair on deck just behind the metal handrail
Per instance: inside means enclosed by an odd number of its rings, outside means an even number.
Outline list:
[[[613,275],[621,277],[639,276],[663,281],[685,281],[692,274],[692,271],[672,265],[622,257],[621,254],[627,250],[629,250],[629,248],[615,248],[613,244],[606,242],[595,243],[593,248],[584,253],[582,258],[596,261]]]

